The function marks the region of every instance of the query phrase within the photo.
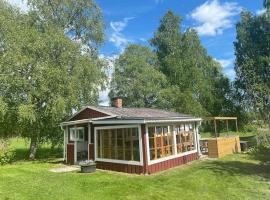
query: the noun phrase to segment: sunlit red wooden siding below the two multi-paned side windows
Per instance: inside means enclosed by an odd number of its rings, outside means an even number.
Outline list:
[[[159,171],[163,171],[169,168],[173,168],[179,165],[186,164],[188,162],[198,159],[198,153],[193,153],[186,156],[181,156],[178,158],[173,158],[156,164],[148,165],[148,173],[153,174]]]

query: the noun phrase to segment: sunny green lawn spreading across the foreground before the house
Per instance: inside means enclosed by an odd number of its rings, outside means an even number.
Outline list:
[[[247,154],[195,161],[150,176],[48,171],[60,166],[54,156],[1,166],[0,199],[270,199],[270,166]]]

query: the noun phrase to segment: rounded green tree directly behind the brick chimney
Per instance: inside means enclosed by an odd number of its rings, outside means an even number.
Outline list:
[[[155,107],[166,84],[155,53],[148,47],[130,45],[115,62],[110,97],[122,97],[127,107]]]

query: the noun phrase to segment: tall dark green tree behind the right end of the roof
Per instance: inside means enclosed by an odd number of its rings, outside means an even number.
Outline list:
[[[180,25],[181,18],[168,11],[150,41],[172,87],[173,94],[166,94],[167,104],[170,109],[200,116],[226,114],[231,106],[228,78],[207,54],[196,31],[181,32]]]

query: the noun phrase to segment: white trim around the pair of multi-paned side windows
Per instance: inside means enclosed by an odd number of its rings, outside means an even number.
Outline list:
[[[168,156],[168,157],[165,157],[165,158],[159,158],[159,159],[156,159],[156,160],[150,160],[150,151],[149,151],[149,136],[148,136],[148,127],[151,127],[151,126],[173,126],[175,127],[176,124],[147,124],[145,127],[146,127],[146,151],[147,151],[147,160],[148,160],[148,165],[153,165],[153,164],[156,164],[156,163],[160,163],[160,162],[163,162],[163,161],[166,161],[166,160],[171,160],[171,159],[174,159],[174,158],[179,158],[179,157],[183,157],[183,156],[186,156],[186,155],[190,155],[190,154],[193,154],[193,153],[197,153],[197,145],[194,145],[195,146],[195,149],[192,150],[192,151],[187,151],[187,152],[183,152],[183,153],[176,153],[175,155],[171,155],[171,156]],[[194,136],[197,134],[197,131],[195,131],[195,125],[196,125],[196,122],[194,122]],[[175,132],[175,130],[173,130],[173,132]],[[174,147],[176,146],[176,137],[175,137],[175,133],[173,134],[174,135],[174,138],[173,139],[173,142],[174,142]],[[195,136],[196,137],[196,136]],[[195,138],[194,137],[194,138]],[[197,138],[195,138],[195,140],[197,140]],[[196,144],[197,141],[194,142],[194,144]]]

